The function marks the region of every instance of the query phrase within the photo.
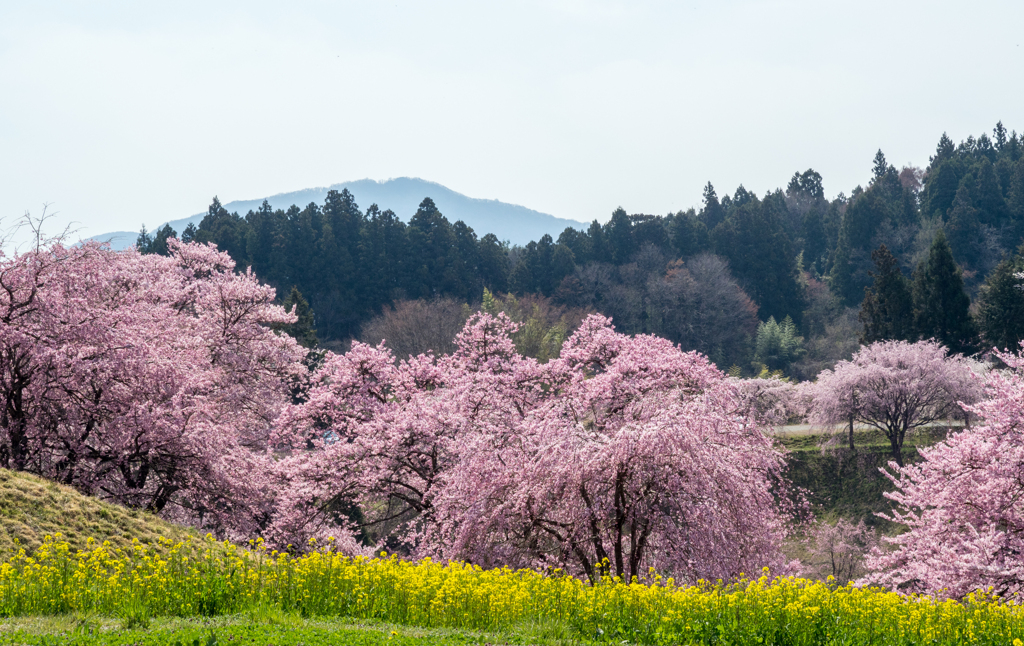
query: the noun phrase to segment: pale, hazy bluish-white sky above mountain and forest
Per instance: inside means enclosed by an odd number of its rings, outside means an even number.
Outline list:
[[[0,2],[0,217],[365,177],[601,221],[1024,130],[1024,3]],[[358,196],[356,196],[358,200]],[[409,217],[412,214],[399,214]]]

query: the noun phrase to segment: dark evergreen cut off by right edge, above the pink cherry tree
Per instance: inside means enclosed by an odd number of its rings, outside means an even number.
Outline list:
[[[978,327],[986,346],[1017,350],[1024,340],[1024,247],[1004,258],[978,293]]]

